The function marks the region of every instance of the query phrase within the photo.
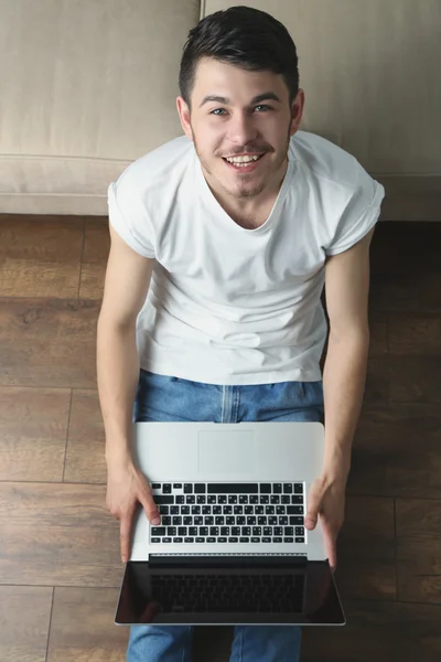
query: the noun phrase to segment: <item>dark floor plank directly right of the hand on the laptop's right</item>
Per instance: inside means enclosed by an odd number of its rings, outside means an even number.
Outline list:
[[[392,499],[347,495],[335,574],[342,600],[396,598],[394,532]]]

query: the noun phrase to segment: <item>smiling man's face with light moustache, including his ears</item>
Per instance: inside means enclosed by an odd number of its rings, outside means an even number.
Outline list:
[[[211,99],[213,96],[219,98]],[[302,89],[290,108],[288,87],[280,75],[247,72],[204,57],[197,65],[191,98],[191,115],[182,97],[176,99],[178,111],[215,191],[245,201],[280,185],[289,140],[302,117]],[[259,159],[246,166],[227,162],[226,157],[239,154]]]

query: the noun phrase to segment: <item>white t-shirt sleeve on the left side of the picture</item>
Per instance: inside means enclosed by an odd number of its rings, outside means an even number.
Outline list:
[[[154,233],[148,211],[136,195],[111,182],[107,191],[109,223],[120,237],[137,253],[154,258]]]

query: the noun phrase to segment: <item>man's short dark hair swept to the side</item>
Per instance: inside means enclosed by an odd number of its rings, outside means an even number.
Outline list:
[[[281,74],[289,90],[290,106],[299,92],[295,44],[283,23],[259,9],[238,6],[216,11],[189,32],[179,85],[190,110],[196,66],[202,57],[236,64],[250,72]]]

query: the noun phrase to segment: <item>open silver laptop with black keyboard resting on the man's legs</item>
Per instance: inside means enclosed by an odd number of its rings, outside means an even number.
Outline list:
[[[139,504],[115,623],[343,626],[320,517],[321,423],[135,423]]]

